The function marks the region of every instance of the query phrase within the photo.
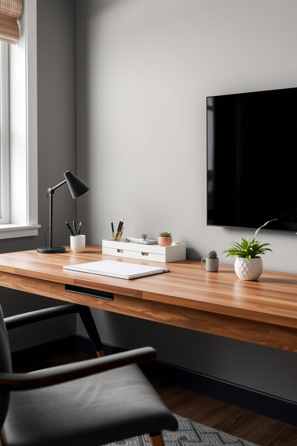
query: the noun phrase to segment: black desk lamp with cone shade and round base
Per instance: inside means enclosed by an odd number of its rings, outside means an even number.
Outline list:
[[[37,252],[42,252],[44,254],[65,252],[66,248],[64,246],[53,246],[53,193],[54,191],[67,182],[73,198],[80,197],[85,194],[90,187],[87,186],[83,181],[77,178],[70,170],[64,173],[65,180],[57,184],[55,187],[49,187],[46,192],[46,197],[49,198],[49,248],[41,247],[37,248]]]

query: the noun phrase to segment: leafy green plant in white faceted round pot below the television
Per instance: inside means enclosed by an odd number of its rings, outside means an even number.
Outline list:
[[[274,219],[276,220],[276,219]],[[263,271],[263,262],[259,254],[265,254],[266,251],[272,251],[270,248],[264,248],[270,245],[270,243],[260,244],[256,240],[256,236],[261,227],[267,225],[267,223],[273,220],[269,220],[262,226],[258,227],[255,232],[252,241],[249,240],[249,235],[245,239],[241,239],[241,243],[232,242],[232,248],[225,249],[223,253],[226,253],[226,259],[236,256],[234,269],[236,275],[241,280],[257,280]]]

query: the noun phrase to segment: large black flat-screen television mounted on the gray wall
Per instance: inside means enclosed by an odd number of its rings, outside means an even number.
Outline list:
[[[297,88],[207,97],[207,225],[297,232]]]

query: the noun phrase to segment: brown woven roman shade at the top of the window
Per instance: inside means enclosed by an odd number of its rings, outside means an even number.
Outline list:
[[[20,37],[17,19],[22,15],[22,0],[0,0],[0,40],[13,43]]]

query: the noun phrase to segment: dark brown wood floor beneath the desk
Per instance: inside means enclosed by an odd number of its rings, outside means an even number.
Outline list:
[[[27,367],[14,370],[14,372],[31,372],[90,358],[93,358],[93,356],[77,351],[31,363]],[[150,379],[150,381],[171,412],[182,417],[228,432],[228,434],[256,443],[259,446],[297,445],[297,426],[259,415],[190,390],[172,386],[164,381],[155,379]]]

